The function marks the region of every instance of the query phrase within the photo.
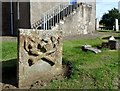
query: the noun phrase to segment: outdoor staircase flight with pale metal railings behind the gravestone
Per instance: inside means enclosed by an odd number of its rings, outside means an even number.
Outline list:
[[[65,17],[75,14],[81,3],[59,3],[45,12],[40,20],[32,25],[32,29],[50,30],[59,23],[64,24]]]

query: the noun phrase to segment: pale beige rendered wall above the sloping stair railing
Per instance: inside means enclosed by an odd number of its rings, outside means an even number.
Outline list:
[[[59,2],[32,2],[30,0],[30,20],[31,25],[40,20],[40,17],[44,15],[45,12],[55,7]]]

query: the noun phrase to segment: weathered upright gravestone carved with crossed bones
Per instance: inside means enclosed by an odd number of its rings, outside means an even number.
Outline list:
[[[62,31],[19,30],[18,87],[50,79],[62,69]]]

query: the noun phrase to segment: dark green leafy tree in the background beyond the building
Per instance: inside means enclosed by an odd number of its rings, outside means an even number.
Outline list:
[[[108,13],[105,13],[102,16],[102,19],[100,20],[100,24],[104,25],[105,27],[108,27],[109,29],[113,28],[113,25],[115,25],[115,19],[118,19],[119,25],[120,25],[120,13],[119,10],[116,8],[113,8],[108,11]]]

